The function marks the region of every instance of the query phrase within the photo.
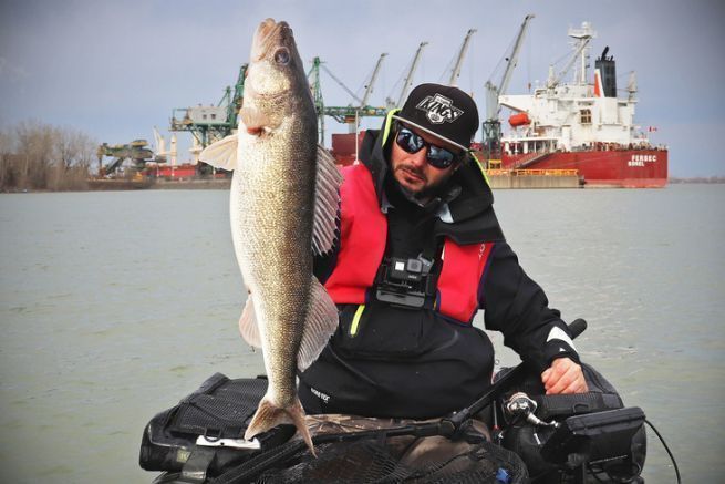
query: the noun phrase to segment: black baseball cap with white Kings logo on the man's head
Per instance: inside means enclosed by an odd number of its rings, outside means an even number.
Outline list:
[[[449,85],[416,86],[393,117],[462,150],[470,147],[478,131],[476,103],[468,94]]]

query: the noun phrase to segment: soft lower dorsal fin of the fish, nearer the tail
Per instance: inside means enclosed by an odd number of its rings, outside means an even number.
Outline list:
[[[338,307],[317,277],[312,276],[310,286],[310,311],[297,353],[297,368],[300,371],[307,370],[318,359],[340,322]]]

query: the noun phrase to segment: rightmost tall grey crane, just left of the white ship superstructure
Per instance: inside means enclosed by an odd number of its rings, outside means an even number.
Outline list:
[[[514,40],[511,53],[505,58],[506,69],[504,69],[501,79],[496,84],[494,84],[490,79],[486,81],[486,121],[483,123],[483,144],[489,156],[493,153],[499,151],[501,138],[501,123],[498,120],[498,114],[501,111],[501,106],[498,103],[498,96],[504,95],[508,90],[508,85],[511,81],[511,74],[514,73],[514,69],[516,69],[516,64],[518,63],[518,55],[524,43],[526,29],[529,24],[529,21],[534,17],[534,14],[529,13],[524,18],[524,22],[521,22],[521,27],[519,27],[518,33]],[[493,76],[494,74],[491,74],[491,78]]]

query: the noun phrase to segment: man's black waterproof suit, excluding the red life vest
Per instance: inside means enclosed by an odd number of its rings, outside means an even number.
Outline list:
[[[439,255],[444,237],[459,245],[493,243],[479,287],[479,309],[489,330],[538,372],[555,358],[579,361],[560,339],[547,342],[553,327],[568,329],[559,311],[548,307],[541,288],[518,264],[493,208],[493,194],[475,161],[468,161],[425,206],[410,202],[389,172],[390,142],[369,131],[360,153],[372,174],[381,208],[387,217],[386,257],[415,258],[426,249]],[[453,218],[444,223],[441,207]],[[322,282],[338,261],[339,244],[315,260]],[[441,269],[437,260],[432,277]],[[300,373],[300,399],[308,413],[426,419],[473,403],[489,385],[494,348],[469,321],[453,321],[433,309],[405,308],[377,300],[375,287],[356,321],[358,305],[340,305],[340,326],[320,358]],[[354,332],[354,334],[353,334]]]

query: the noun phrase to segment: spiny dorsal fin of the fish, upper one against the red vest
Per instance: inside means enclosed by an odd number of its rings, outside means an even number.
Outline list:
[[[341,183],[342,174],[335,166],[334,158],[330,152],[318,145],[314,225],[312,227],[312,253],[314,255],[330,251],[334,244]]]

